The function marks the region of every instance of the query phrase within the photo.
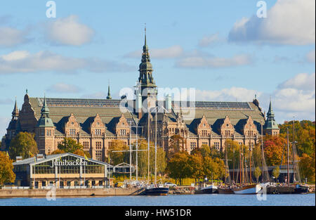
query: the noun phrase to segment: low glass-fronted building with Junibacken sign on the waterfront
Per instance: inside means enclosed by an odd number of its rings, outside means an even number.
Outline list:
[[[88,159],[72,153],[37,155],[13,162],[15,186],[45,188],[76,188],[79,186],[105,187],[110,185],[113,167],[105,162]]]

